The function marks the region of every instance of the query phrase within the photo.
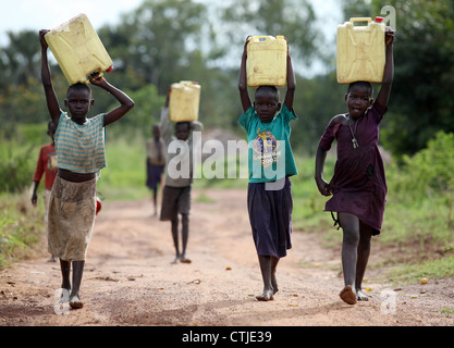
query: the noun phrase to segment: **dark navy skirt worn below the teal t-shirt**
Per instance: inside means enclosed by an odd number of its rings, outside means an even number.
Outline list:
[[[267,189],[266,183],[248,185],[247,209],[259,256],[283,258],[292,248],[292,183],[284,181],[281,189]]]

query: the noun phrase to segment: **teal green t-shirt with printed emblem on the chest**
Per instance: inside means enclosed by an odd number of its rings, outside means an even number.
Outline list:
[[[290,145],[290,121],[297,119],[285,103],[269,123],[260,121],[254,107],[240,116],[238,123],[247,133],[249,183],[269,183],[298,174]]]

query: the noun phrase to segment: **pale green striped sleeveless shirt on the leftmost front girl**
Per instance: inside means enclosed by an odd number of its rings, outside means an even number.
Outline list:
[[[107,166],[105,114],[87,119],[83,125],[62,112],[56,132],[58,166],[75,173],[96,173]]]

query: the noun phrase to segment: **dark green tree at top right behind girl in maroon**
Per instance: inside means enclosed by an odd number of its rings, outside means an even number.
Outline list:
[[[380,1],[364,4],[344,0],[345,16],[380,15]],[[396,14],[395,73],[381,138],[394,154],[413,154],[438,130],[454,132],[454,1],[390,0],[389,5]]]

